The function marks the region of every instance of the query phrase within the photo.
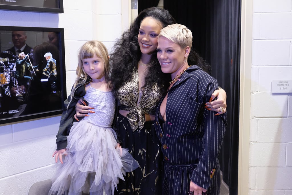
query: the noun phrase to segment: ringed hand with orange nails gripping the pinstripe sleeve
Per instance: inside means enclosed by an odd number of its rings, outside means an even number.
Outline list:
[[[215,99],[216,97],[217,97],[217,99]],[[218,90],[215,90],[213,92],[209,102],[207,102],[205,104],[205,108],[207,110],[217,112],[214,114],[215,116],[220,115],[220,114],[224,114],[226,112],[226,107],[227,107],[226,97],[227,97],[227,95],[226,95],[226,92],[224,89],[219,88]]]

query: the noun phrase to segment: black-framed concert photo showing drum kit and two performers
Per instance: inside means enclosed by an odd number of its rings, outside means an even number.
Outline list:
[[[64,29],[0,26],[0,124],[62,113]]]

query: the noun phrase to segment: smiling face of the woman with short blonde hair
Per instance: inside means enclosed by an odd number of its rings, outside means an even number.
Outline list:
[[[157,46],[157,59],[164,73],[171,73],[171,77],[175,78],[188,65],[185,57],[188,56],[190,47],[181,48],[180,45],[161,36],[159,37]]]

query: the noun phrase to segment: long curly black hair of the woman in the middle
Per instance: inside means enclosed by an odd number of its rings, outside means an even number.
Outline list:
[[[110,87],[114,93],[117,92],[123,83],[129,81],[132,78],[134,71],[138,69],[138,61],[141,58],[138,34],[140,24],[146,17],[151,17],[160,21],[162,27],[176,23],[172,15],[162,8],[147,8],[139,13],[130,28],[125,31],[121,38],[114,44],[114,50],[109,58],[109,64],[111,66],[109,81]],[[170,74],[165,74],[161,71],[156,54],[157,51],[154,51],[151,56],[150,65],[148,66],[149,71],[145,75],[145,85],[143,87],[153,86],[153,84],[157,83],[163,94],[169,86],[171,77]],[[188,62],[190,62],[190,65],[196,64],[200,67],[208,67],[203,58],[195,52],[192,52],[192,54],[189,55]],[[208,68],[203,69],[208,70]]]

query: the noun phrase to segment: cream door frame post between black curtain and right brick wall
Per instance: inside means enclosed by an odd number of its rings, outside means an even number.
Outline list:
[[[253,1],[241,1],[238,194],[248,194]]]

